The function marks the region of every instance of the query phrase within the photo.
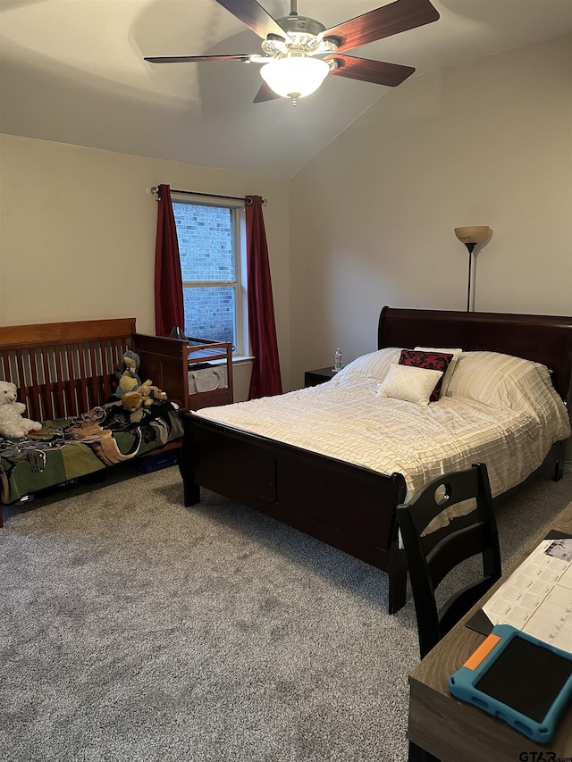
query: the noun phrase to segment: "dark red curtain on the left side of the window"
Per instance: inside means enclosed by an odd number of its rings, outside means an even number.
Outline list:
[[[160,185],[155,249],[156,335],[169,336],[175,326],[185,331],[179,241],[172,214],[171,188]]]

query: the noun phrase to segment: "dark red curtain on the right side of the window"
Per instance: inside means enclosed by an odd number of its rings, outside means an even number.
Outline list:
[[[282,394],[262,198],[247,196],[248,333],[254,355],[248,399]]]

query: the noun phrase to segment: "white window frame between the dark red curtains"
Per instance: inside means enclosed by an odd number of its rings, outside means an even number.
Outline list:
[[[233,359],[249,356],[248,346],[248,298],[247,298],[247,236],[246,236],[246,203],[225,197],[195,196],[172,193],[173,204],[189,206],[216,206],[231,211],[232,224],[232,256],[234,267],[233,281],[182,281],[184,289],[221,289],[234,290],[234,348]],[[179,239],[179,230],[177,230]],[[181,248],[179,251],[181,256]],[[205,337],[197,337],[198,339]]]

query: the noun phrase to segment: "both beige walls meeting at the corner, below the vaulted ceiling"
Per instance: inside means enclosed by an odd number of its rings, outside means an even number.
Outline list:
[[[476,258],[477,310],[572,314],[571,96],[569,36],[413,78],[290,193],[237,172],[0,136],[0,324],[135,315],[154,332],[146,189],[160,182],[268,198],[285,389],[337,346],[346,363],[373,350],[384,304],[465,309],[458,225],[493,230]],[[244,368],[239,378],[248,387]]]

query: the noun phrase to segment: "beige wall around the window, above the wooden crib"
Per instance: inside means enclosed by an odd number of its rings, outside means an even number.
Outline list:
[[[290,364],[288,186],[238,172],[0,136],[0,325],[137,317],[155,333],[156,200],[147,188],[267,198],[282,367]],[[237,398],[248,367],[237,368]]]

